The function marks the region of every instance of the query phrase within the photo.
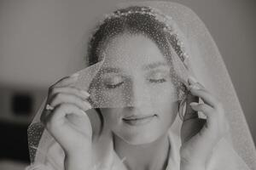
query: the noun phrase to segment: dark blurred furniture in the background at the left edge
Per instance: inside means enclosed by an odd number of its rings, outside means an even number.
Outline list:
[[[0,86],[0,169],[24,169],[29,163],[27,127],[44,99],[41,88]]]

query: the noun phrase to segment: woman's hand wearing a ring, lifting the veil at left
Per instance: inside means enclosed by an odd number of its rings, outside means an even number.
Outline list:
[[[90,160],[92,129],[84,112],[91,108],[87,101],[90,94],[73,87],[78,77],[77,74],[64,77],[49,88],[47,104],[54,109],[44,109],[40,117],[45,128],[61,144],[67,161],[78,160],[78,157],[84,161],[86,156]]]

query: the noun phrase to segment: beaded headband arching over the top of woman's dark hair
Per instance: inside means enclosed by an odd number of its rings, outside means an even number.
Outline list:
[[[183,99],[186,98],[188,92],[187,89],[187,84],[186,82],[180,82],[180,78],[181,77],[187,77],[187,69],[188,69],[188,65],[187,65],[187,60],[189,58],[189,54],[187,54],[186,49],[183,46],[183,41],[181,40],[181,35],[180,32],[178,32],[176,23],[174,20],[172,20],[171,16],[168,16],[166,14],[163,14],[159,9],[157,8],[152,8],[152,7],[139,7],[137,6],[136,8],[120,8],[116,11],[114,11],[113,13],[110,14],[105,14],[103,20],[100,20],[98,22],[98,26],[96,26],[95,30],[92,31],[92,34],[90,35],[90,41],[94,41],[95,37],[94,34],[96,31],[98,31],[98,29],[100,28],[100,26],[102,26],[102,24],[106,21],[106,20],[112,20],[112,19],[118,19],[118,18],[122,18],[122,17],[129,17],[132,14],[142,14],[142,15],[148,15],[154,18],[154,20],[158,20],[162,25],[162,31],[164,31],[166,33],[166,42],[167,42],[167,46],[169,46],[170,48],[172,48],[172,54],[176,55],[173,56],[173,60],[177,63],[177,64],[173,64],[175,66],[177,66],[177,71],[180,73],[179,77],[174,76],[173,78],[173,82],[177,83],[177,87],[180,89],[178,90],[178,95],[179,95],[179,99],[180,101],[182,101]],[[88,44],[88,48],[90,51],[91,48],[91,44]],[[172,73],[171,73],[172,74]],[[175,74],[172,74],[175,75]],[[182,76],[181,76],[182,75]],[[186,78],[183,78],[186,79]]]

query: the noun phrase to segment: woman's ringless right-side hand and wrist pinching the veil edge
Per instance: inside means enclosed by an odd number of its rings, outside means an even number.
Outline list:
[[[213,147],[229,132],[229,126],[218,99],[193,78],[189,78],[189,84],[190,93],[181,128],[181,169],[205,169]],[[196,103],[199,98],[204,103]],[[201,111],[207,119],[198,118],[197,111]]]

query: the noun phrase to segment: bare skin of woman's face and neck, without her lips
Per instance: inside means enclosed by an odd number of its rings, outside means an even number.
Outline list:
[[[169,147],[167,131],[177,116],[177,90],[170,77],[170,65],[154,42],[143,35],[114,37],[104,54],[102,70],[111,67],[119,71],[103,75],[103,82],[122,83],[106,88],[105,93],[118,95],[122,94],[121,89],[129,89],[131,98],[125,102],[132,105],[101,109],[106,126],[113,132],[114,149],[119,157],[126,157],[129,169],[161,169]],[[120,95],[118,100],[122,99]],[[124,121],[129,116],[153,118],[132,126]]]

